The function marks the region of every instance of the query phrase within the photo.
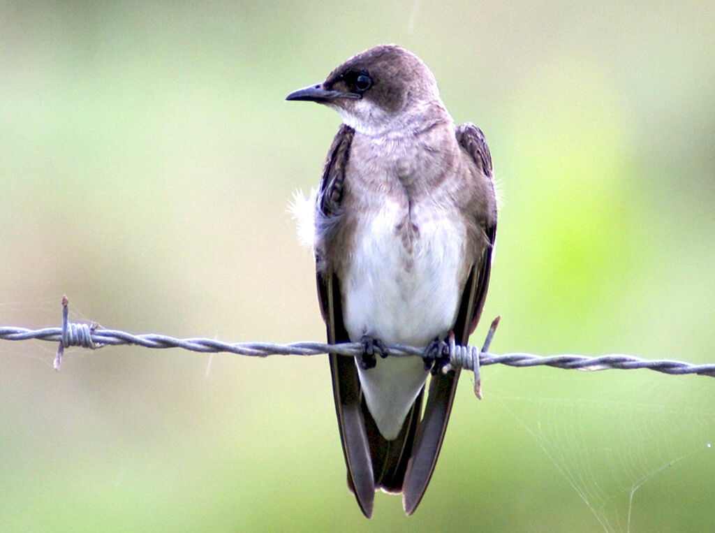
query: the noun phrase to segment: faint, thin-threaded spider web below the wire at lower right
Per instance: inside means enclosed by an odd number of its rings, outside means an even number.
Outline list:
[[[539,376],[536,384],[528,383],[530,391],[517,396],[489,383],[489,399],[536,441],[603,530],[643,529],[638,524],[649,508],[638,499],[639,491],[648,485],[661,489],[659,474],[667,469],[679,469],[686,486],[687,476],[693,477],[690,467],[712,471],[715,383],[708,378],[645,371],[567,376],[552,370]],[[682,496],[674,495],[672,502]]]

